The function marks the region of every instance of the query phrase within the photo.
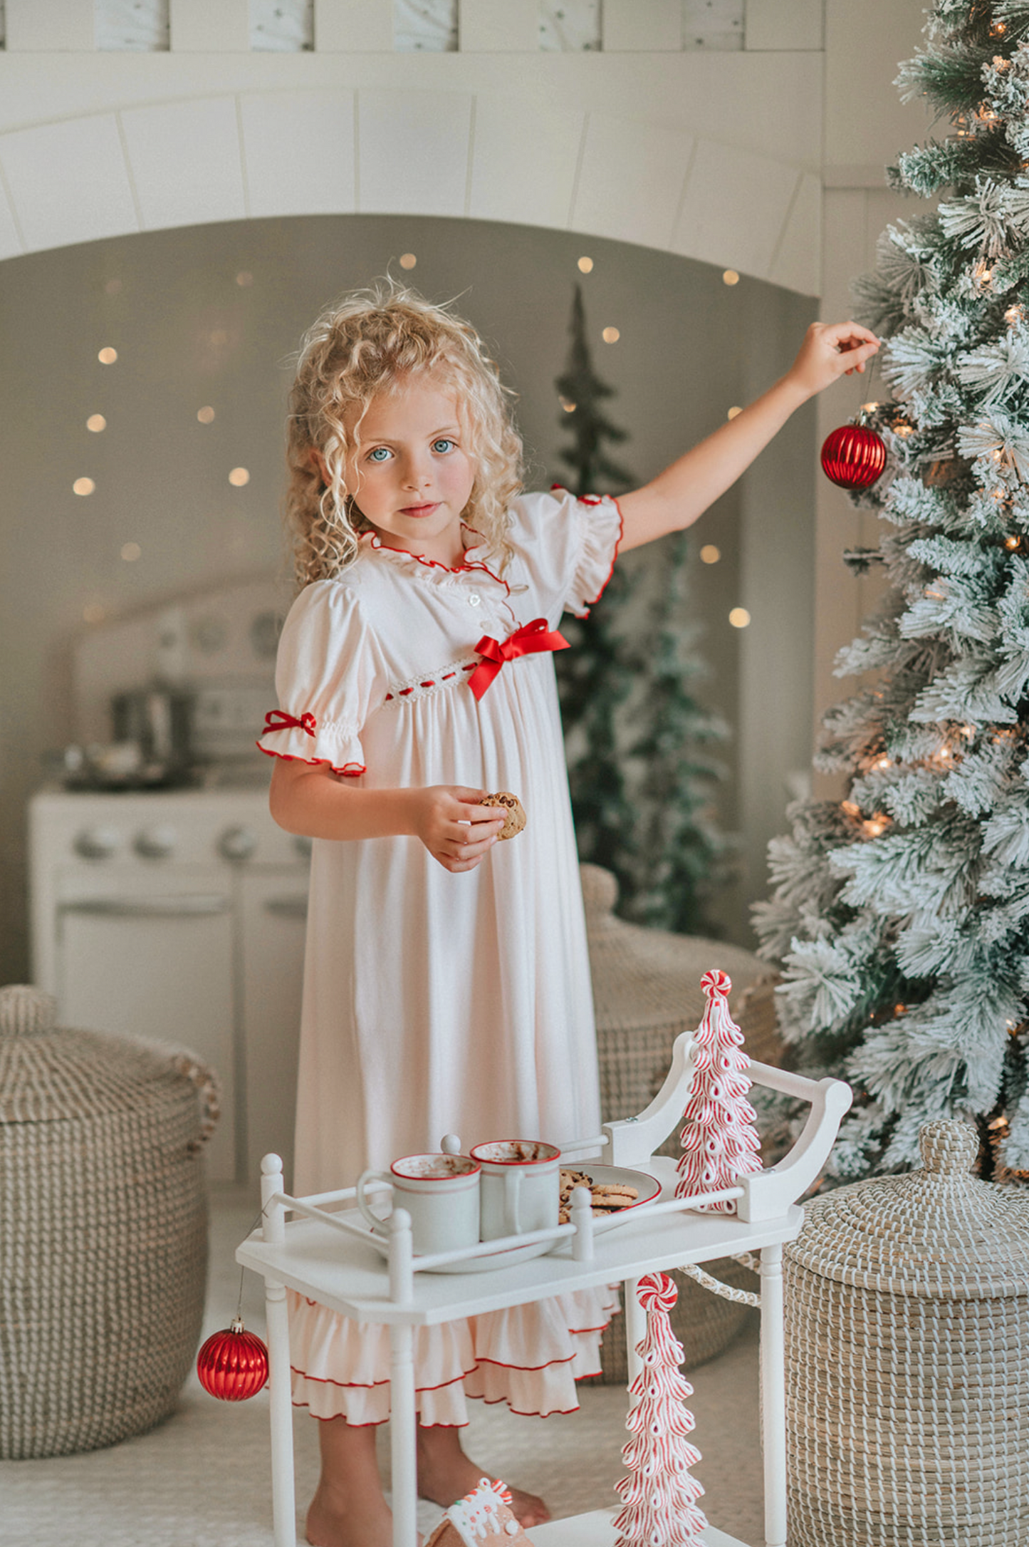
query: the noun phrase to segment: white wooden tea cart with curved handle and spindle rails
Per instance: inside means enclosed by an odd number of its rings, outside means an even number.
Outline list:
[[[635,1346],[646,1330],[635,1296],[641,1275],[740,1253],[760,1253],[765,1547],[785,1547],[782,1244],[800,1231],[803,1210],[797,1199],[820,1174],[851,1103],[851,1091],[839,1080],[816,1083],[752,1063],[754,1084],[810,1105],[803,1132],[773,1170],[742,1177],[737,1187],[718,1193],[677,1199],[675,1162],[654,1151],[681,1122],[692,1083],[692,1033],[683,1032],[672,1049],[667,1078],[646,1112],[606,1123],[601,1135],[561,1146],[565,1156],[603,1151],[604,1166],[644,1171],[661,1182],[661,1193],[654,1202],[606,1221],[593,1219],[589,1193],[581,1188],[573,1194],[572,1222],[567,1225],[484,1242],[464,1252],[416,1258],[406,1210],[397,1208],[389,1216],[388,1247],[375,1245],[352,1207],[354,1188],[290,1197],[283,1191],[281,1160],[278,1156],[264,1157],[264,1224],[243,1242],[236,1261],[260,1273],[266,1286],[275,1547],[297,1547],[286,1287],[345,1316],[389,1327],[392,1542],[394,1547],[414,1547],[414,1327],[598,1284],[624,1282],[632,1380],[638,1371]],[[717,1199],[735,1199],[735,1214],[695,1213],[698,1204]],[[498,1258],[501,1265],[484,1270],[481,1259],[490,1258]],[[701,1425],[697,1437],[703,1445]],[[538,1547],[612,1547],[613,1515],[613,1510],[604,1508],[536,1525],[527,1535]],[[705,1541],[708,1547],[746,1547],[715,1527],[705,1532]]]

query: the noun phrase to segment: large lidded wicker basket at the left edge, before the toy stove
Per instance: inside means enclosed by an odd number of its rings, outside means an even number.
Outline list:
[[[173,1409],[216,1115],[190,1054],[60,1030],[49,995],[0,989],[0,1457],[113,1445]]]

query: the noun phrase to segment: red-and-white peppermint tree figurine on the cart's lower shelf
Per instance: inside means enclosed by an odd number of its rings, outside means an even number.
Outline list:
[[[637,1293],[647,1332],[637,1344],[643,1371],[629,1388],[635,1403],[626,1426],[633,1437],[621,1454],[630,1476],[615,1484],[623,1505],[615,1547],[703,1547],[708,1521],[697,1499],[705,1490],[689,1471],[700,1451],[686,1437],[694,1416],[684,1398],[694,1388],[680,1372],[683,1344],[669,1321],[678,1290],[667,1273],[647,1273]]]

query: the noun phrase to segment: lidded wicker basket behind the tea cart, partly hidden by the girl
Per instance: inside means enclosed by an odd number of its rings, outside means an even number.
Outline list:
[[[779,979],[768,962],[722,941],[626,924],[613,913],[618,882],[610,871],[581,865],[579,873],[604,1122],[633,1117],[661,1089],[675,1038],[700,1026],[705,1013],[700,979],[711,967],[722,967],[732,979],[729,1009],[746,1040],[746,1052],[762,1063],[780,1063],[773,1001]],[[660,1154],[680,1153],[674,1132]],[[757,1289],[756,1275],[729,1258],[706,1265],[734,1289]],[[712,1295],[681,1273],[672,1276],[678,1286],[672,1330],[683,1344],[686,1369],[695,1369],[722,1354],[752,1312]],[[629,1368],[621,1323],[615,1323],[601,1343],[601,1366],[604,1383],[624,1385]]]

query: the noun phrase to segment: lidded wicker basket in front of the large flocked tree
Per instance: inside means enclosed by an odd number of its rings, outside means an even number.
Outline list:
[[[1029,1197],[966,1123],[921,1151],[785,1248],[791,1547],[1029,1542]]]

